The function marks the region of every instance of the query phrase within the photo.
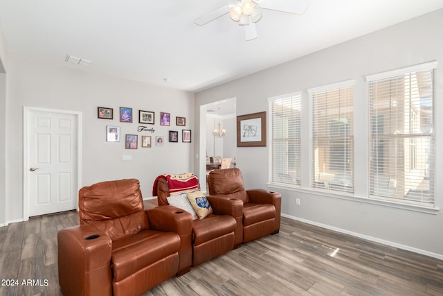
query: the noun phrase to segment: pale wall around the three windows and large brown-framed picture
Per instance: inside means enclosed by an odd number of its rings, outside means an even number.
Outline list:
[[[368,103],[365,76],[414,64],[439,61],[435,71],[436,151],[443,148],[443,10],[332,46],[303,58],[266,69],[196,94],[199,105],[221,98],[237,98],[237,114],[268,111],[267,98],[302,92],[302,182],[309,189],[309,112],[307,89],[354,79],[355,195],[368,195]],[[198,124],[198,123],[196,123]],[[198,139],[197,139],[198,140]],[[196,143],[197,145],[197,143]],[[237,148],[237,167],[246,188],[266,188],[269,143],[265,148]],[[436,155],[436,202],[443,204],[443,158]],[[275,189],[274,189],[275,190]],[[282,193],[282,214],[318,225],[398,245],[443,259],[443,215],[424,214],[380,204],[345,200],[314,191],[277,189]],[[294,200],[300,198],[301,205]]]

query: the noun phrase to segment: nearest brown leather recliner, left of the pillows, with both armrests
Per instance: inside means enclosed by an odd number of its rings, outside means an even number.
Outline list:
[[[189,270],[192,218],[176,207],[145,211],[136,179],[79,191],[80,225],[58,232],[66,295],[142,295]]]

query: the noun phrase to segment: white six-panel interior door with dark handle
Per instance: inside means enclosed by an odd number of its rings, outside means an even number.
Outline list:
[[[75,209],[78,200],[79,115],[27,110],[25,116],[28,216]]]

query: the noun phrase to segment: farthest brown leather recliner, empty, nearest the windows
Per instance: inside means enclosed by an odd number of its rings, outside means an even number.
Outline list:
[[[236,198],[243,202],[242,216],[236,217],[238,227],[235,244],[246,243],[280,231],[281,195],[264,189],[245,190],[238,168],[215,170],[208,175],[208,198]]]

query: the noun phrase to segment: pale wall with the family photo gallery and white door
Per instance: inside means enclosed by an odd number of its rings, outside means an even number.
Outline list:
[[[93,64],[91,64],[93,67]],[[194,137],[194,95],[143,82],[94,74],[65,62],[44,64],[12,53],[8,61],[6,106],[6,175],[8,221],[23,218],[23,106],[82,112],[82,186],[105,180],[138,178],[143,197],[152,195],[157,175],[192,171],[192,143],[181,142],[181,130]],[[114,108],[114,120],[98,119],[97,107]],[[119,122],[119,107],[133,108],[133,123]],[[138,110],[155,112],[154,133],[137,132]],[[160,126],[159,112],[170,112],[170,127]],[[176,116],[186,117],[186,126],[176,125]],[[120,126],[121,141],[106,141],[106,126]],[[168,143],[168,131],[179,131],[179,143]],[[125,149],[125,134],[138,134],[137,150]],[[141,148],[141,135],[165,137],[165,146]],[[193,141],[193,140],[192,140]],[[155,141],[153,141],[155,143]],[[132,155],[132,161],[122,161]]]

